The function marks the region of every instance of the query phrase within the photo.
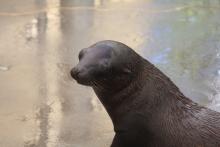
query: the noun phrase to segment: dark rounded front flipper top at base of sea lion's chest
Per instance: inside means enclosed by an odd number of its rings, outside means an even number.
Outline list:
[[[152,140],[151,134],[146,128],[146,120],[136,113],[132,113],[120,120],[120,124],[114,127],[115,137],[111,147],[146,147]]]

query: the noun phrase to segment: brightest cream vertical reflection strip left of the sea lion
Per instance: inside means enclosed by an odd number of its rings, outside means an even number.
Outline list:
[[[54,0],[53,4],[59,6],[59,0]],[[50,111],[48,113],[48,124],[47,124],[47,147],[53,147],[58,142],[60,121],[62,118],[61,104],[59,97],[59,83],[58,73],[59,70],[55,62],[59,62],[59,47],[60,47],[60,11],[59,9],[53,9],[47,12],[47,52],[48,56],[45,56],[45,71],[47,80],[47,99],[46,105]]]

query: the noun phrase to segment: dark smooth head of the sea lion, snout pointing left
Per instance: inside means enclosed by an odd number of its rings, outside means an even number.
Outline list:
[[[71,76],[82,85],[122,88],[135,74],[135,54],[116,41],[100,41],[79,53],[79,63]]]

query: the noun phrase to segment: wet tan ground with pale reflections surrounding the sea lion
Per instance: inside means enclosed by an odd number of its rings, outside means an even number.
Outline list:
[[[121,41],[220,111],[219,0],[0,0],[0,146],[108,147],[93,91],[69,76],[81,48]]]

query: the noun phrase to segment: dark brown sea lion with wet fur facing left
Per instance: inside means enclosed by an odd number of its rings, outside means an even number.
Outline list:
[[[91,86],[114,125],[111,147],[220,147],[220,113],[185,97],[128,46],[101,41],[71,70]]]

